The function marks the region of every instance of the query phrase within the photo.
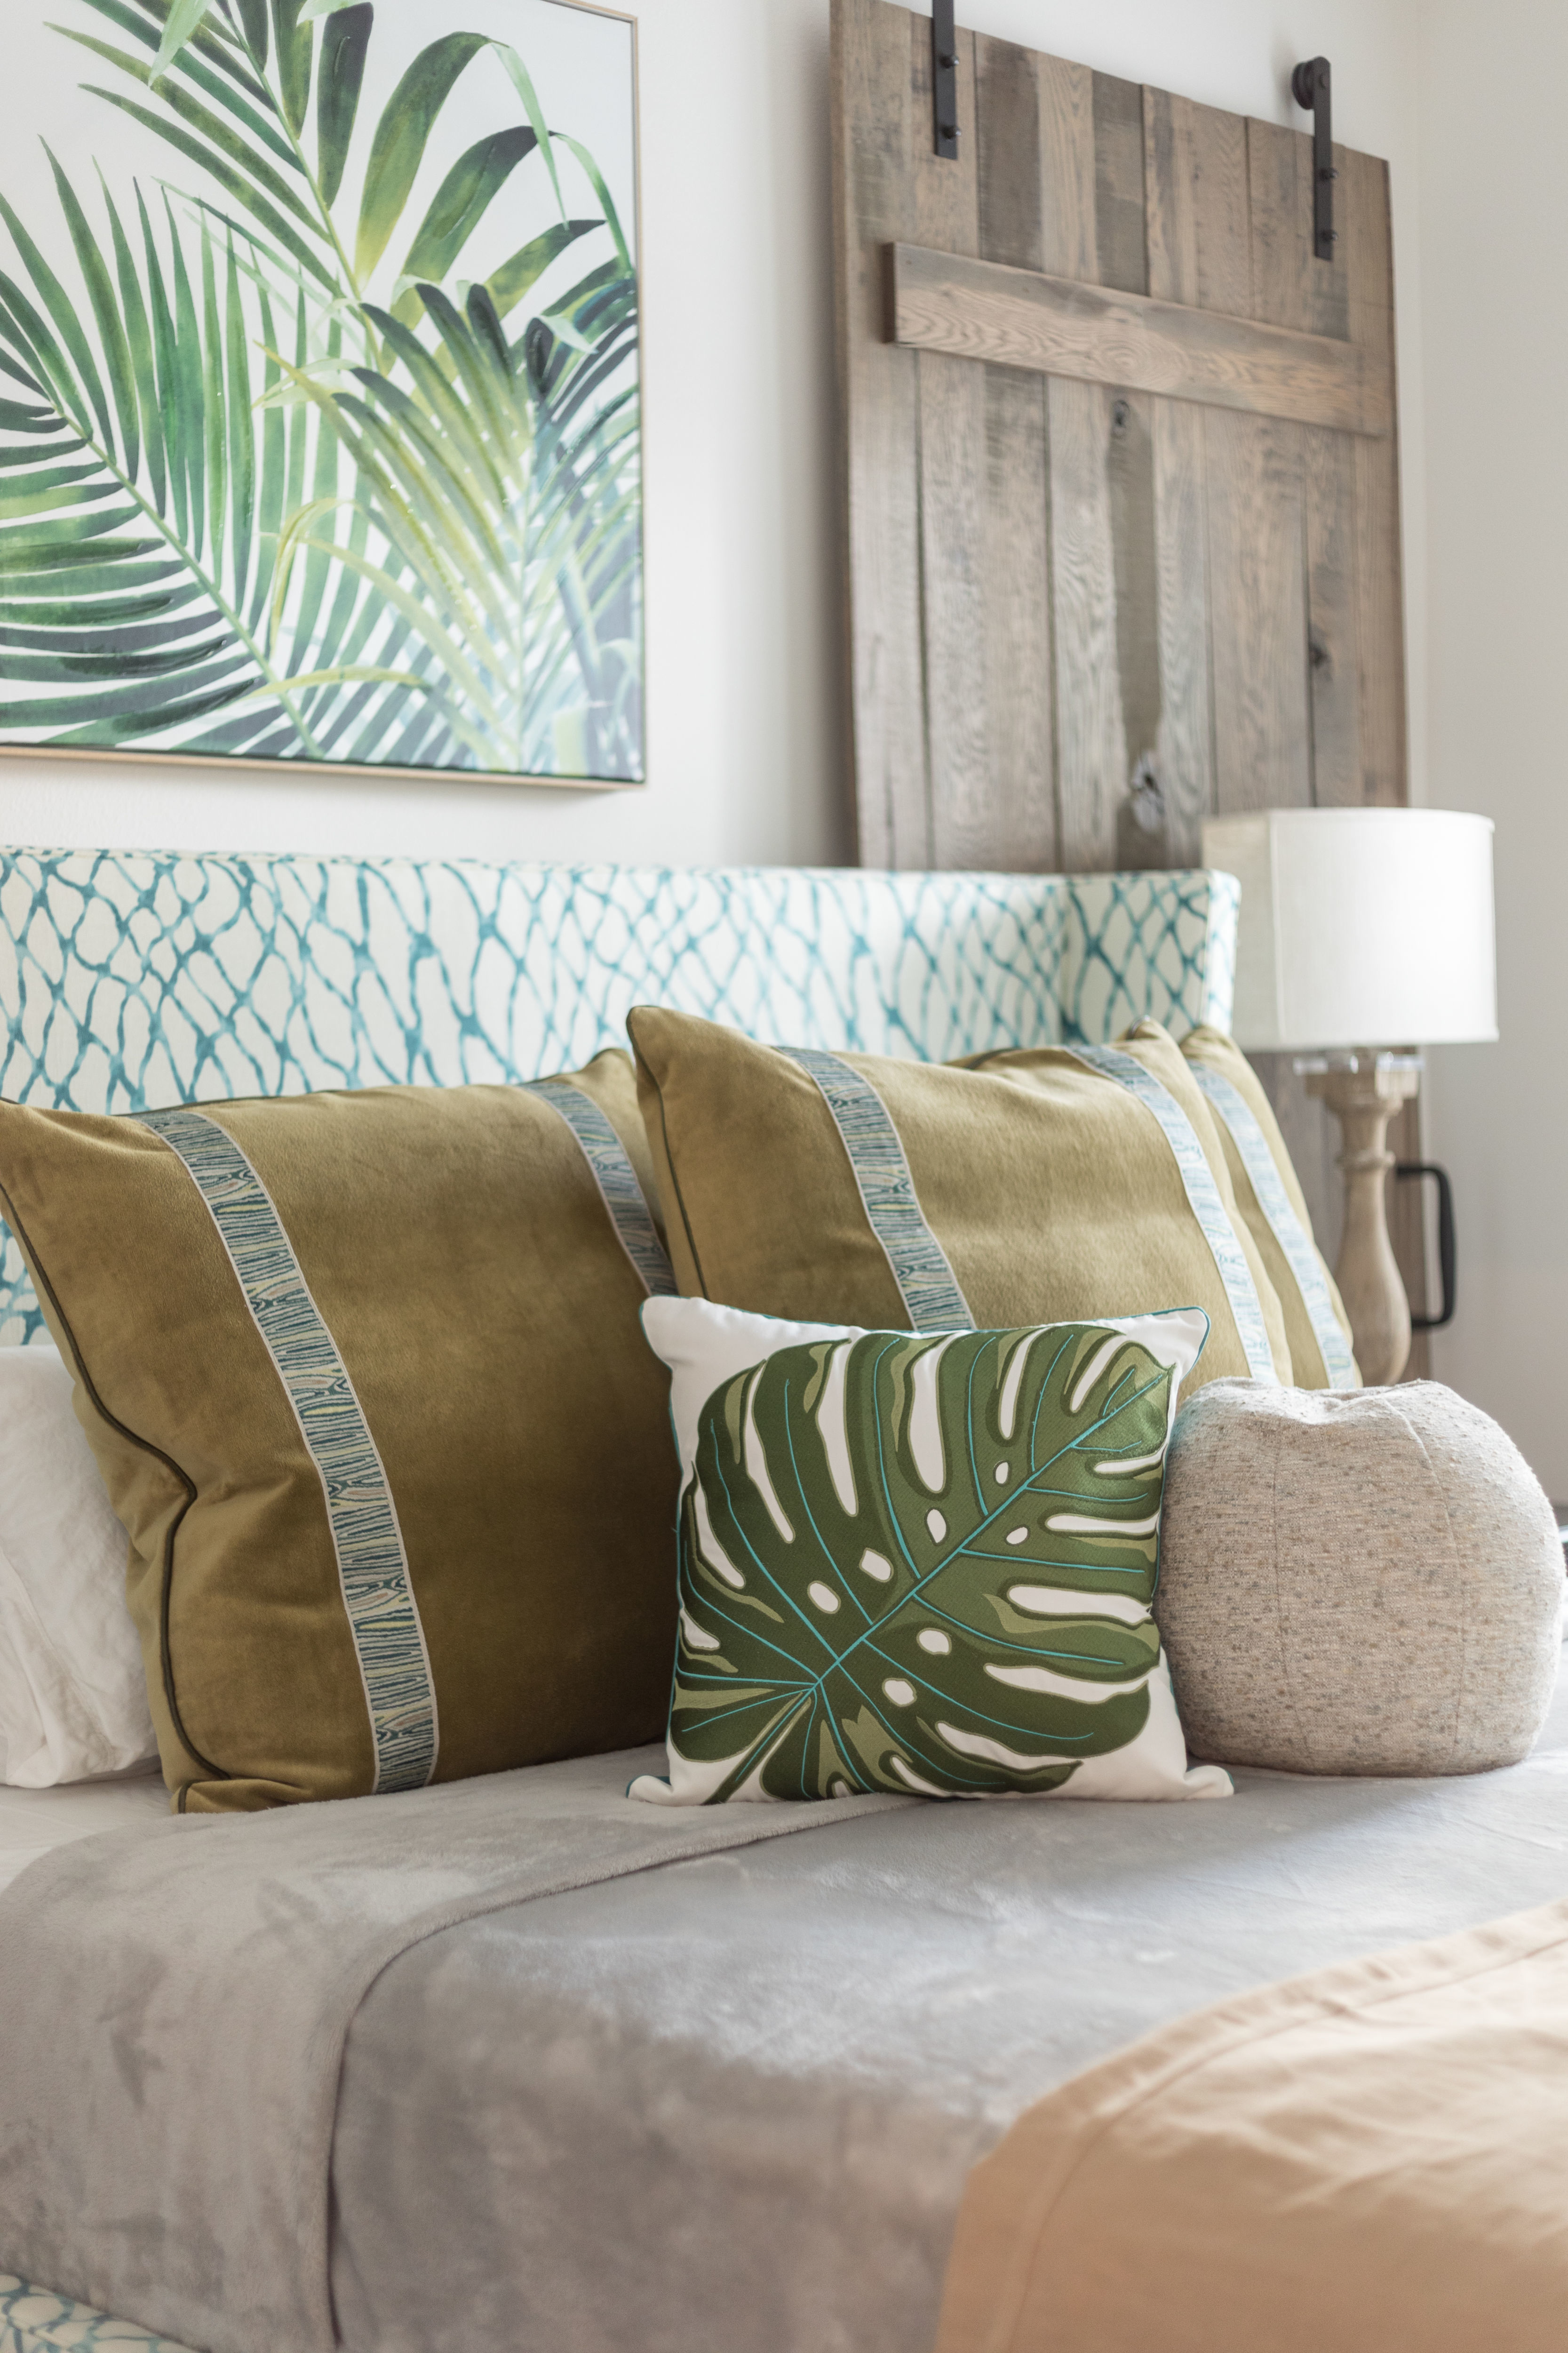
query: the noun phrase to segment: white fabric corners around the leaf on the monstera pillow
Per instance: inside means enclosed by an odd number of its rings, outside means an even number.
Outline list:
[[[1107,1332],[1126,1332],[1157,1362],[1173,1369],[1171,1419],[1166,1424],[1168,1442],[1180,1402],[1180,1381],[1197,1365],[1208,1337],[1208,1318],[1201,1308],[1187,1308],[1164,1315],[1095,1315],[1084,1320],[1105,1325]],[[679,1454],[682,1494],[696,1461],[698,1417],[715,1388],[731,1381],[738,1372],[748,1372],[764,1355],[773,1355],[776,1348],[863,1337],[860,1325],[783,1322],[773,1315],[745,1315],[741,1308],[722,1308],[708,1299],[649,1299],[642,1308],[642,1327],[654,1353],[670,1367],[670,1424]],[[1229,1798],[1232,1781],[1220,1765],[1187,1765],[1187,1741],[1175,1713],[1171,1668],[1166,1666],[1164,1649],[1159,1652],[1159,1664],[1150,1675],[1147,1689],[1150,1715],[1138,1739],[1110,1755],[1084,1758],[1070,1781],[1041,1795],[1138,1800]],[[628,1795],[646,1798],[651,1805],[703,1805],[724,1779],[724,1767],[693,1765],[677,1753],[675,1744],[668,1744],[668,1781],[661,1781],[656,1774],[639,1774]],[[741,1798],[785,1802],[773,1800],[759,1781],[748,1781],[738,1788],[736,1800]],[[832,1798],[788,1802],[832,1805]]]

